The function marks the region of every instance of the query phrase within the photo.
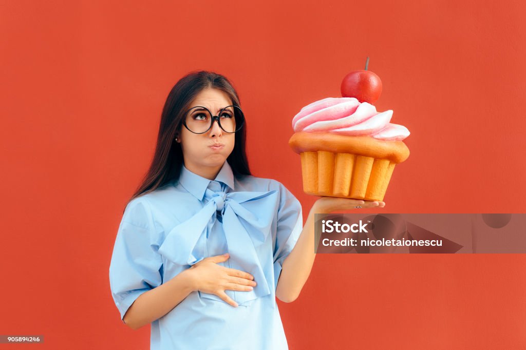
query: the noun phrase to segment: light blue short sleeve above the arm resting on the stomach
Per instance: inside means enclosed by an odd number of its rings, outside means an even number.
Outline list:
[[[139,295],[163,282],[163,261],[155,236],[149,202],[141,198],[130,201],[117,231],[109,266],[110,288],[121,320]]]

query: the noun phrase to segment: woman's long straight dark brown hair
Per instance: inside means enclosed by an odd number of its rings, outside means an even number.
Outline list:
[[[241,108],[236,90],[230,81],[220,74],[206,70],[192,71],[177,81],[166,98],[161,114],[157,145],[150,168],[129,201],[179,179],[183,164],[183,151],[180,143],[175,141],[175,135],[180,132],[184,113],[189,109],[191,101],[206,88],[226,92],[232,100],[232,105]],[[251,175],[245,151],[246,138],[247,123],[245,121],[241,130],[235,134],[234,150],[227,158],[236,178]]]

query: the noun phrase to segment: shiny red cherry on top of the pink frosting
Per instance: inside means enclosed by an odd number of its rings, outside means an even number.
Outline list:
[[[370,70],[353,70],[341,82],[341,96],[374,104],[382,93],[380,77]]]

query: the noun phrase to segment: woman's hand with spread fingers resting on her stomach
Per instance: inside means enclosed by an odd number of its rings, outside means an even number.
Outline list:
[[[230,269],[217,263],[227,261],[230,254],[209,256],[194,264],[189,271],[194,275],[195,290],[215,294],[228,304],[237,307],[238,304],[229,297],[225,290],[251,291],[256,286],[254,276],[251,274]]]

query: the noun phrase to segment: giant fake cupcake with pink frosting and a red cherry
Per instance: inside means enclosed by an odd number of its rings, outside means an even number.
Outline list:
[[[363,79],[379,83],[379,90]],[[289,145],[301,156],[304,191],[382,201],[396,164],[409,157],[402,142],[409,130],[390,122],[392,110],[378,112],[372,105],[381,81],[371,71],[349,73],[341,90],[344,97],[312,102],[292,119]]]

